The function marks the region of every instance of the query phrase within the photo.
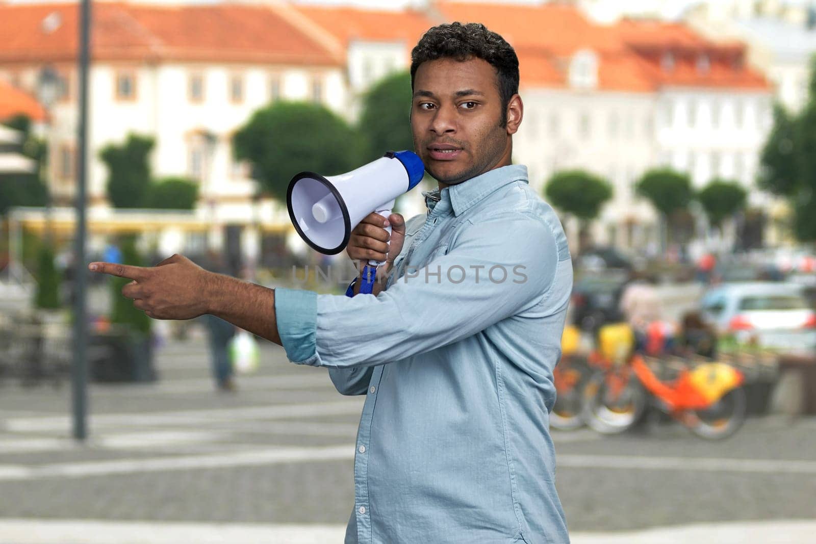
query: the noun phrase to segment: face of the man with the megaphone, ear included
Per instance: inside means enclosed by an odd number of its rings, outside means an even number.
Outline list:
[[[521,122],[502,125],[495,69],[486,60],[429,60],[414,77],[410,124],[414,148],[441,184],[460,184],[510,164],[510,136]],[[514,100],[517,100],[517,96]]]

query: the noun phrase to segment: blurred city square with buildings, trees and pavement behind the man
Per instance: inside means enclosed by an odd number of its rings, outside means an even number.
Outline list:
[[[286,187],[411,149],[410,50],[457,20],[517,51],[513,159],[574,258],[551,422],[574,542],[811,542],[816,2],[91,9],[83,144],[80,4],[0,0],[0,542],[342,541],[361,399],[223,321],[151,321],[86,263],[343,293]]]

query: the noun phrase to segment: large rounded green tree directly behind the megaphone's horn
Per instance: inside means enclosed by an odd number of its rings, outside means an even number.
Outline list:
[[[234,156],[250,161],[255,176],[279,200],[303,170],[336,175],[361,164],[361,139],[322,105],[276,102],[256,111],[233,139]]]

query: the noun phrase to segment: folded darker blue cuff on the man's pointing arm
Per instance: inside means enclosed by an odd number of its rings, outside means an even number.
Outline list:
[[[277,288],[275,317],[289,360],[296,365],[312,365],[317,360],[317,293]]]

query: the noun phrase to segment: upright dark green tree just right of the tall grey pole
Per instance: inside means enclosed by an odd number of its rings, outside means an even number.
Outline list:
[[[150,188],[150,136],[127,135],[124,144],[108,144],[100,159],[108,167],[108,199],[116,208],[141,208]]]

